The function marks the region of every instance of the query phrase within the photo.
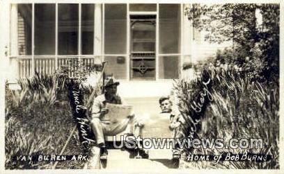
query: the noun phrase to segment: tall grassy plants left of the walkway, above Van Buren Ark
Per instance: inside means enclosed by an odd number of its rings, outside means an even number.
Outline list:
[[[59,155],[72,129],[77,124],[68,99],[68,69],[52,75],[35,73],[18,80],[20,90],[6,85],[6,169],[52,168],[54,162],[19,161],[22,155]],[[99,74],[100,72],[98,72]],[[84,73],[78,76],[84,76]],[[100,85],[81,86],[84,103],[91,103],[90,94],[101,93]],[[88,105],[90,110],[90,105]],[[90,155],[81,146],[77,131],[63,155]],[[83,168],[84,161],[59,162],[56,168]]]

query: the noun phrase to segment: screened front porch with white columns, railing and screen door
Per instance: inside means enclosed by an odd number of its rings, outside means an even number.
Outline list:
[[[8,80],[52,74],[70,66],[68,60],[87,69],[107,61],[106,72],[125,82],[179,78],[182,64],[194,59],[198,37],[182,15],[184,6],[10,3]]]

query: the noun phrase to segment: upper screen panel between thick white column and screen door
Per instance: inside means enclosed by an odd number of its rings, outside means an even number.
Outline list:
[[[125,54],[127,42],[127,5],[104,6],[104,53]]]

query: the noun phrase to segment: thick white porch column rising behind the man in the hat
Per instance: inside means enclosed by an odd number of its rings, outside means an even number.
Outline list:
[[[97,62],[97,57],[100,56],[100,60],[102,59],[102,4],[95,3],[95,26],[94,26],[94,55],[95,55],[95,63]]]

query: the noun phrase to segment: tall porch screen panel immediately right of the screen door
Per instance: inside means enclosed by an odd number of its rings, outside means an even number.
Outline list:
[[[180,5],[159,4],[159,78],[180,75]]]

